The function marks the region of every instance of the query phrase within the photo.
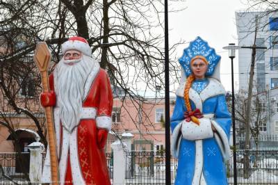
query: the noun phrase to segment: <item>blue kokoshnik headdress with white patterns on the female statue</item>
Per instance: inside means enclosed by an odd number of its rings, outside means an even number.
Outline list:
[[[179,63],[186,72],[186,77],[192,74],[190,68],[190,62],[195,56],[204,56],[208,62],[208,70],[205,74],[206,77],[213,75],[215,67],[218,65],[221,56],[215,53],[215,49],[208,46],[208,42],[197,37],[195,40],[190,42],[189,47],[183,49],[183,56],[179,58]]]

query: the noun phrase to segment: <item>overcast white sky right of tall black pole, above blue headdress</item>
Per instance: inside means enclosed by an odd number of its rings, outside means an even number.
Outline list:
[[[170,44],[177,43],[181,38],[190,42],[200,36],[215,48],[222,56],[220,77],[226,90],[231,91],[231,61],[228,51],[222,47],[229,43],[238,43],[236,34],[236,10],[244,10],[246,4],[240,0],[170,0],[170,8],[187,7],[179,13],[170,13],[169,29]],[[177,56],[181,56],[188,43],[177,49]],[[234,60],[235,88],[238,89],[238,60]]]

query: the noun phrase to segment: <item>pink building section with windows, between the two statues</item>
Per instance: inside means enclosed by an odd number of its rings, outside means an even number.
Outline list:
[[[170,115],[174,109],[175,97],[170,98]],[[112,131],[118,136],[124,132],[133,134],[139,143],[152,143],[153,147],[134,146],[134,150],[163,150],[165,148],[165,100],[148,97],[131,100],[128,97],[114,99]],[[113,141],[110,136],[108,143]]]

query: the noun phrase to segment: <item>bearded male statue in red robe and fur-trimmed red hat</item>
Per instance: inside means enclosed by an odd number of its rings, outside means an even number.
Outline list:
[[[49,76],[42,106],[54,106],[60,184],[111,184],[104,146],[111,129],[113,95],[108,76],[91,58],[87,40],[72,37]],[[51,183],[49,149],[42,182]]]

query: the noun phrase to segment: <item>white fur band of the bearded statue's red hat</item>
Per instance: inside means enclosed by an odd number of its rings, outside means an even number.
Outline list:
[[[65,51],[70,49],[81,51],[87,56],[92,55],[92,49],[90,46],[87,43],[81,42],[79,40],[67,40],[67,42],[64,42],[62,45],[62,54],[65,54]]]

